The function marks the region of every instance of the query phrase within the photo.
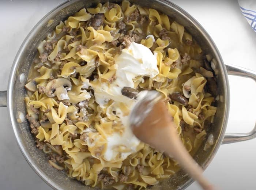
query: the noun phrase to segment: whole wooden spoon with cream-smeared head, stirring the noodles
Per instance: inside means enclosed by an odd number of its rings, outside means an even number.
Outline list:
[[[182,144],[173,118],[170,117],[159,92],[147,91],[146,95],[137,101],[130,115],[130,126],[139,140],[177,160],[204,190],[214,190],[204,178],[202,168]]]

